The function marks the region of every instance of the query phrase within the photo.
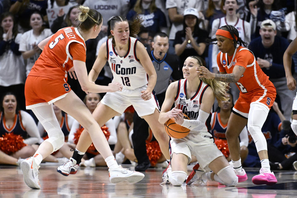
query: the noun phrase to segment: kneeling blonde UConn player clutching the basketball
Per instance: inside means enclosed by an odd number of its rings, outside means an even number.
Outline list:
[[[227,84],[217,80],[199,79],[195,68],[200,66],[202,62],[198,57],[189,56],[183,65],[185,79],[171,83],[166,91],[159,122],[164,124],[168,119],[174,118],[175,123],[191,131],[184,138],[171,138],[171,161],[163,171],[162,184],[181,186],[187,177],[191,155],[194,155],[200,167],[195,166],[196,172],[189,176],[187,184],[201,184],[209,179],[234,186],[238,183],[238,178],[209,133],[214,99],[228,100],[225,97]],[[173,103],[175,107],[170,110]],[[187,114],[190,120],[184,119],[183,114]]]

